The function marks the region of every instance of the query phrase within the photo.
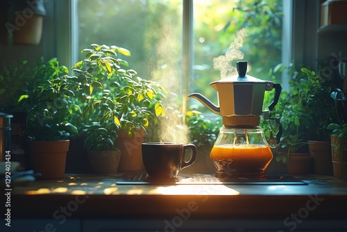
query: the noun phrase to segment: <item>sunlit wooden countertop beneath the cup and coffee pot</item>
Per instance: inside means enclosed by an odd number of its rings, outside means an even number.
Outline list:
[[[284,219],[307,213],[314,219],[347,218],[347,179],[297,176],[307,185],[117,185],[121,174],[67,174],[38,180],[11,192],[17,218],[190,217]]]

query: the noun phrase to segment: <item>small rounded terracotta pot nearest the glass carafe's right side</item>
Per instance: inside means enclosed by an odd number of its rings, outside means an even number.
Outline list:
[[[310,153],[291,153],[287,160],[289,174],[312,174],[313,158]]]

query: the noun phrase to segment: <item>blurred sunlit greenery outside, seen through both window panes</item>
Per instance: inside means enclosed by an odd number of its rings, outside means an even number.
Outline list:
[[[194,66],[187,93],[201,92],[217,103],[208,83],[221,78],[214,59],[227,51],[232,56],[228,65],[246,60],[249,75],[272,81],[269,70],[281,63],[282,1],[199,0],[193,1],[193,10]],[[142,78],[164,85],[182,102],[178,94],[183,81],[182,0],[80,0],[78,30],[79,51],[92,43],[129,49],[130,67]],[[238,34],[240,30],[244,34]],[[276,82],[280,81],[279,76]],[[205,111],[196,101],[189,103]]]

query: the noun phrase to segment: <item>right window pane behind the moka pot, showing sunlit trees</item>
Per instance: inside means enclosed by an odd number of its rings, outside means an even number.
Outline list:
[[[217,103],[208,83],[237,74],[239,60],[248,62],[249,75],[271,80],[269,70],[281,63],[281,47],[282,1],[194,1],[191,87]]]

